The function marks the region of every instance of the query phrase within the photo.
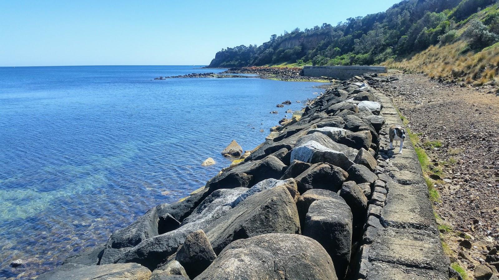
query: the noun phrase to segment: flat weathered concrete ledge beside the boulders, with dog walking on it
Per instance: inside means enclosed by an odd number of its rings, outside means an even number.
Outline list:
[[[414,146],[407,139],[403,154],[397,153],[398,146],[389,149],[389,127],[402,122],[390,98],[377,91],[374,95],[383,105],[380,115],[386,120],[378,155],[384,168],[378,176],[391,181],[385,185],[384,207],[375,215],[384,228],[368,229],[365,235],[368,244],[362,252],[359,279],[447,280],[449,264]]]

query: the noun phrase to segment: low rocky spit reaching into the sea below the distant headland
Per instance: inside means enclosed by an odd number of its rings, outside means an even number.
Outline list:
[[[180,76],[158,77],[155,80],[166,80],[171,78],[261,78],[279,81],[301,81],[301,82],[330,82],[327,78],[305,77],[301,76],[301,68],[299,67],[237,67],[229,68],[221,73],[193,73]],[[252,74],[257,77],[236,75],[236,74]]]

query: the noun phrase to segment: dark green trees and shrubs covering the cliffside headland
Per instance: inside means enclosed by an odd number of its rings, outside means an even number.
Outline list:
[[[460,53],[494,44],[499,34],[496,0],[403,0],[385,12],[348,18],[336,26],[291,32],[260,46],[228,47],[209,67],[293,63],[368,65],[406,58],[432,45],[466,41]],[[493,5],[493,6],[490,6]]]

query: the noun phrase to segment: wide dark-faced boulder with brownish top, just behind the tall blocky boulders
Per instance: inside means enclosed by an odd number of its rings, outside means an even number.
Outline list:
[[[300,193],[309,189],[327,189],[336,192],[347,177],[348,173],[338,166],[316,163],[296,177],[296,185]]]

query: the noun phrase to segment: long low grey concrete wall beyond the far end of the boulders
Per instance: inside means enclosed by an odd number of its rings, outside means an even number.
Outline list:
[[[350,79],[364,73],[387,73],[386,66],[304,66],[303,76]]]

